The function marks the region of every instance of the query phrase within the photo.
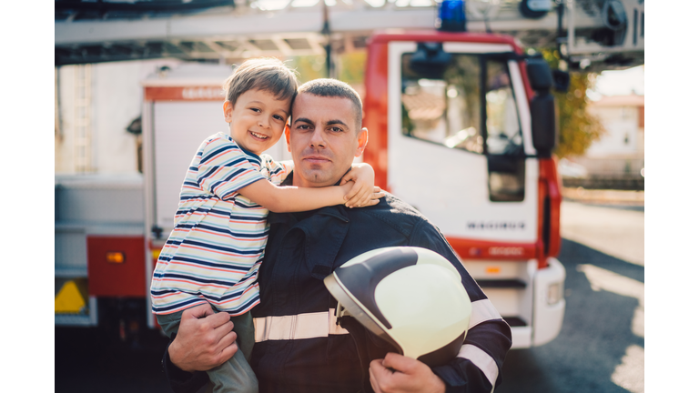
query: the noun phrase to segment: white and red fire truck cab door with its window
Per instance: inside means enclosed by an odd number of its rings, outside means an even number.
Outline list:
[[[389,44],[389,189],[430,217],[462,258],[536,253],[539,167],[512,51]]]

